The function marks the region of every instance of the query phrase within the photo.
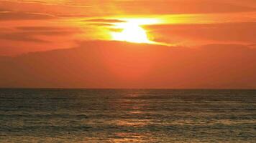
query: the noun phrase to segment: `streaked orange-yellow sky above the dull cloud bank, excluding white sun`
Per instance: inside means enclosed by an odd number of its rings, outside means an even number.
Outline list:
[[[127,17],[165,21],[144,26],[152,41],[185,46],[256,43],[252,0],[6,0],[0,1],[0,55],[111,40],[109,33],[120,30],[111,26]]]

